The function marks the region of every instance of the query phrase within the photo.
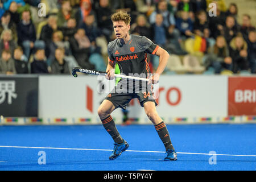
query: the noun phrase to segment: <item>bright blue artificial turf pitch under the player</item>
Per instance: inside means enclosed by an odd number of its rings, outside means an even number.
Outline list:
[[[110,161],[113,140],[101,125],[75,126],[0,126],[0,170],[255,170],[255,156],[216,156],[180,154],[193,152],[229,155],[256,155],[255,124],[167,125],[178,152],[177,161],[164,162],[164,146],[152,125],[117,126],[130,144],[128,150]],[[64,149],[56,149],[66,148]],[[67,150],[77,148],[77,150]],[[81,150],[87,148],[92,150]],[[93,149],[104,149],[103,151]],[[105,151],[107,150],[107,151]],[[134,150],[134,151],[131,151]],[[46,154],[46,164],[39,165],[39,151]],[[141,152],[159,151],[159,152]],[[162,151],[162,152],[160,152]]]

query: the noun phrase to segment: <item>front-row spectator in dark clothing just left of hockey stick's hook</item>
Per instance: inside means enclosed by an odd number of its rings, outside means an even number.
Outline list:
[[[69,74],[68,62],[65,61],[65,49],[55,50],[55,59],[52,61],[51,70],[53,74]]]

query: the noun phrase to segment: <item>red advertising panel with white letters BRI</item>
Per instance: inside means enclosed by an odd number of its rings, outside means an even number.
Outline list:
[[[229,115],[256,115],[256,77],[229,77]]]

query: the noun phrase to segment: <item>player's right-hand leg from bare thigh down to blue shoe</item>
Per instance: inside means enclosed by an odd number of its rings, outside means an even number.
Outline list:
[[[164,160],[177,160],[177,154],[174,146],[172,146],[170,134],[165,123],[163,122],[163,119],[160,118],[156,111],[155,102],[147,101],[144,102],[143,106],[147,117],[154,124],[159,138],[162,140],[164,147],[166,148],[167,157]]]

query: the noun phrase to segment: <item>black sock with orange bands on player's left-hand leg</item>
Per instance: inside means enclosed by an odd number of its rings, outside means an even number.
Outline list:
[[[105,119],[102,119],[101,122],[103,123],[103,126],[105,127],[106,131],[108,131],[110,136],[113,138],[115,143],[123,143],[123,139],[117,131],[117,127],[115,127],[115,123],[111,115],[109,115]]]

